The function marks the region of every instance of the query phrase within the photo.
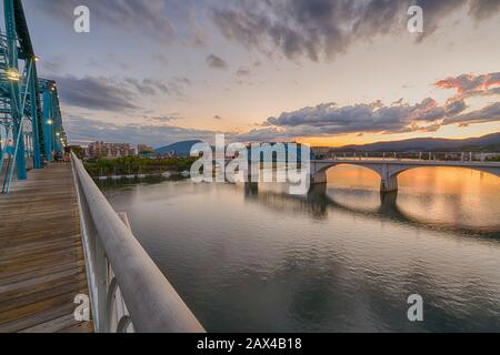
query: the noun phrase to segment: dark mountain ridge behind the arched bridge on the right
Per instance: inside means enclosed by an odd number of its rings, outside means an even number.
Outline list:
[[[362,145],[346,145],[337,151],[436,151],[436,150],[496,150],[500,144],[500,132],[463,140],[450,140],[441,138],[417,138],[393,142],[377,142]]]

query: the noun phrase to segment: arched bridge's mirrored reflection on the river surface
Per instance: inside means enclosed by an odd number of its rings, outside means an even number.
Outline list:
[[[328,209],[330,207],[367,217],[388,219],[421,227],[500,239],[499,220],[489,220],[480,226],[463,223],[470,217],[463,219],[464,213],[461,210],[461,200],[457,195],[444,197],[419,195],[417,199],[401,192],[380,193],[362,189],[336,189],[329,184],[313,185],[304,196],[290,195],[287,192],[288,186],[284,184],[244,184],[244,195],[249,202],[252,200],[258,201],[267,207],[278,210],[284,214],[300,211],[313,219],[327,219]],[[444,199],[444,202],[439,199]],[[402,200],[402,203],[399,203],[399,200]],[[428,215],[427,213],[414,213],[414,211],[413,213],[408,212],[411,211],[409,204],[419,204],[419,209],[431,211],[434,209],[433,205],[441,205],[441,203],[444,204],[443,210],[447,212],[444,219],[443,213],[440,215]],[[480,211],[477,211],[477,213],[480,213]],[[477,222],[477,220],[473,220],[473,222]]]

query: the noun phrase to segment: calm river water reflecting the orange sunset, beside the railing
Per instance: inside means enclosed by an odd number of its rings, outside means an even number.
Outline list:
[[[102,189],[210,332],[500,332],[500,179],[419,169],[386,196],[362,168],[329,181]]]

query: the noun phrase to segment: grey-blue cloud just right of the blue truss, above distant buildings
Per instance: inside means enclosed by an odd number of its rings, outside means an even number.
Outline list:
[[[54,77],[63,104],[89,110],[126,111],[139,109],[133,93],[103,77]]]

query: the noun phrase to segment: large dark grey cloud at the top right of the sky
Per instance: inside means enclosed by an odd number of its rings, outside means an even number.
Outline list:
[[[241,0],[217,7],[212,19],[227,39],[246,48],[319,61],[332,59],[356,41],[407,31],[411,4],[421,6],[426,16],[426,32],[418,40],[467,6],[478,22],[498,10],[498,0]]]

